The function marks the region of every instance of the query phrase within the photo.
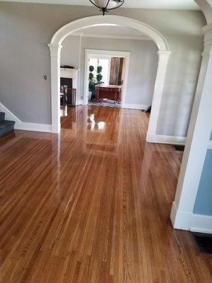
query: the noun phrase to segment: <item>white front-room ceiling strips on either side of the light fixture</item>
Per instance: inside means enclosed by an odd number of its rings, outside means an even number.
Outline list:
[[[88,0],[1,0],[5,2],[27,2],[42,4],[66,4],[90,6]],[[165,8],[182,10],[199,10],[194,0],[125,0],[124,8]]]

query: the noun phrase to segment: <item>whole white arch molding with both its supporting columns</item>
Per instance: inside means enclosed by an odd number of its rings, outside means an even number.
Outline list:
[[[148,37],[158,45],[158,71],[155,79],[155,88],[153,93],[153,102],[151,117],[148,125],[147,141],[153,141],[155,136],[156,127],[158,123],[160,102],[163,94],[163,85],[165,81],[165,73],[167,69],[168,59],[170,57],[170,50],[167,45],[165,37],[161,35],[158,30],[152,28],[146,23],[136,21],[132,18],[126,18],[122,16],[107,15],[91,16],[87,18],[81,18],[77,21],[73,21],[60,28],[57,33],[52,37],[52,41],[49,44],[51,55],[51,98],[52,98],[52,132],[60,132],[60,115],[59,115],[59,79],[60,79],[60,54],[61,54],[61,42],[64,38],[71,33],[81,30],[82,28],[90,28],[98,25],[118,25],[127,28],[133,28],[135,30],[145,33]]]

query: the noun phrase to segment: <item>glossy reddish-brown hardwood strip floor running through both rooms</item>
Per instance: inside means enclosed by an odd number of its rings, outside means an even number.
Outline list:
[[[182,152],[146,144],[139,110],[61,112],[61,137],[0,139],[0,282],[212,282],[170,224]]]

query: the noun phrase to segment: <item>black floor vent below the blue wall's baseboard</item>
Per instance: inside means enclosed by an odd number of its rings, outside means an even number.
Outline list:
[[[196,244],[201,253],[211,253],[212,254],[212,235],[203,233],[192,233]]]

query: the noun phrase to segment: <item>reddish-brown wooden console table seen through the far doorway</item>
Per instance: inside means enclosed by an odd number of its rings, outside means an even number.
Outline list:
[[[100,99],[107,98],[110,100],[114,100],[114,102],[121,102],[122,100],[122,86],[105,86],[105,85],[97,85],[95,86],[95,90],[97,92],[96,101],[100,101]]]

